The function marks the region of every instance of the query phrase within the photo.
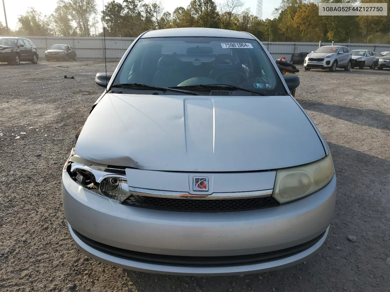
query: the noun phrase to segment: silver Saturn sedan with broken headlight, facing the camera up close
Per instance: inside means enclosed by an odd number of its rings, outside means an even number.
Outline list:
[[[136,271],[229,275],[303,262],[328,235],[327,143],[262,43],[245,32],[140,35],[76,135],[62,172],[69,231]]]

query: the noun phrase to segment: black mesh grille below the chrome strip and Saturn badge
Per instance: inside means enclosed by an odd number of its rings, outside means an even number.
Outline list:
[[[140,195],[130,195],[122,202],[122,204],[139,208],[193,213],[249,211],[270,208],[279,205],[278,202],[273,199],[273,197],[230,200],[200,200],[185,198],[170,199]]]

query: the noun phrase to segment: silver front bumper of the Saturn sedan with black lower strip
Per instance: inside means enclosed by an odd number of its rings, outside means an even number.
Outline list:
[[[245,274],[298,264],[320,248],[333,217],[336,178],[303,199],[235,213],[129,207],[82,188],[67,172],[62,175],[62,198],[76,245],[93,259],[151,273]],[[245,255],[259,260],[243,262]],[[172,261],[160,260],[169,257]],[[193,260],[186,261],[188,257]],[[201,257],[216,260],[194,264]]]

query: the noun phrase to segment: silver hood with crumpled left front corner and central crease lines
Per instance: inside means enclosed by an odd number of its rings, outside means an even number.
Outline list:
[[[112,93],[90,113],[74,153],[100,164],[190,172],[278,169],[325,156],[290,96]]]

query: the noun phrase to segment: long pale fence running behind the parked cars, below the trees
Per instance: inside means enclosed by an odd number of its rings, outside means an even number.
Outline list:
[[[103,59],[105,54],[108,59],[119,59],[126,49],[135,40],[133,37],[106,37],[106,51],[104,50],[103,37],[37,37],[30,36],[28,39],[34,42],[38,48],[39,56],[53,44],[69,44],[77,51],[77,58]],[[274,59],[285,56],[290,60],[293,53],[310,53],[318,48],[317,42],[263,42]],[[332,43],[322,43],[321,46]],[[352,49],[369,49],[374,52],[390,51],[390,44],[348,44],[335,43]]]

